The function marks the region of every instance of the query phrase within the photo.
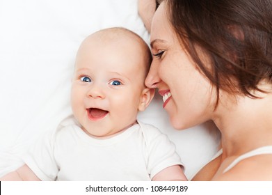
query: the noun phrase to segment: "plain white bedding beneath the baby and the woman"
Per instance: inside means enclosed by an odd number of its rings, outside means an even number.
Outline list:
[[[0,0],[0,176],[70,109],[70,84],[80,42],[90,33],[124,26],[149,42],[137,0]],[[106,57],[106,54],[105,54]],[[191,178],[216,153],[210,124],[177,131],[156,96],[139,119],[168,134]]]

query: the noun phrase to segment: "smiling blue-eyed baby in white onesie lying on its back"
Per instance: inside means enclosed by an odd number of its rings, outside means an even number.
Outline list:
[[[72,79],[74,116],[1,180],[186,180],[174,144],[136,119],[154,96],[144,84],[151,61],[149,47],[127,29],[88,36]]]

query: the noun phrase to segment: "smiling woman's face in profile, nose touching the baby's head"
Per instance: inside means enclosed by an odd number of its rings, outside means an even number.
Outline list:
[[[211,118],[214,100],[211,100],[211,84],[196,69],[170,27],[166,6],[161,3],[152,20],[154,57],[145,84],[159,89],[173,127],[186,129]]]

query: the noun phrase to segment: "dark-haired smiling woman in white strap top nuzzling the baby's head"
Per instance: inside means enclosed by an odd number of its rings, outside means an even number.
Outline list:
[[[272,180],[272,1],[165,0],[145,84],[176,129],[214,120],[222,153],[193,180]]]

